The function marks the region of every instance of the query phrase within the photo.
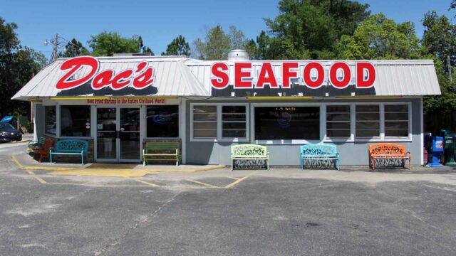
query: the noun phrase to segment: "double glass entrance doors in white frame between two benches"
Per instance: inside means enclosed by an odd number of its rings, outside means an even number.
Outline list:
[[[97,107],[96,160],[139,162],[140,108]]]

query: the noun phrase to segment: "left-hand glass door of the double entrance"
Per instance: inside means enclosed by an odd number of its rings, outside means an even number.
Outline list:
[[[118,161],[117,107],[97,108],[97,160]]]

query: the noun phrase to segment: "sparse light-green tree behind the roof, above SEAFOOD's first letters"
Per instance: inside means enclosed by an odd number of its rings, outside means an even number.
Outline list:
[[[252,40],[247,39],[235,26],[229,26],[229,33],[225,33],[220,25],[206,29],[206,36],[203,39],[197,38],[193,44],[195,46],[193,55],[200,60],[226,60],[230,50],[254,49]]]

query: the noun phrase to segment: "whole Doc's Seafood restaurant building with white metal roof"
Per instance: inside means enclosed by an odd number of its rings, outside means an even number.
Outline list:
[[[299,146],[335,144],[368,165],[368,144],[404,144],[423,164],[423,96],[432,60],[228,60],[120,55],[59,58],[14,100],[31,101],[35,137],[90,142],[89,161],[141,162],[145,142],[180,142],[182,164],[230,164],[230,146],[268,147],[299,166]]]

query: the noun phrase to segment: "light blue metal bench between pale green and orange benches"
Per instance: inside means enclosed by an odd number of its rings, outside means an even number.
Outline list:
[[[301,146],[301,170],[304,170],[305,161],[334,161],[334,166],[339,169],[340,156],[337,148],[330,144],[307,144]]]

